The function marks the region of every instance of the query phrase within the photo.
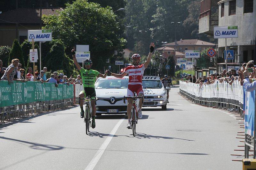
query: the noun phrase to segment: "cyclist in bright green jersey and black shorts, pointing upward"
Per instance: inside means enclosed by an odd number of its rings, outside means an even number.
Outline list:
[[[95,98],[96,98],[96,92],[95,92],[95,81],[96,77],[102,77],[106,78],[107,74],[100,74],[96,70],[92,70],[92,60],[87,58],[84,60],[84,66],[86,69],[82,68],[76,60],[75,49],[72,49],[71,51],[73,53],[73,60],[76,65],[76,68],[80,71],[83,85],[84,85],[84,91],[81,91],[79,93],[79,98],[84,98],[86,96],[91,96],[91,105],[92,105],[92,128],[95,128],[95,115],[96,115],[96,106],[95,106]],[[81,107],[81,118],[84,118],[84,100],[80,99],[80,107]]]

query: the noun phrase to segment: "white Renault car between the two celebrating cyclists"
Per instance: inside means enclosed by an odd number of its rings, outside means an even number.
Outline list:
[[[98,78],[95,83],[96,115],[101,114],[127,114],[127,96],[129,77],[116,78],[107,76]]]

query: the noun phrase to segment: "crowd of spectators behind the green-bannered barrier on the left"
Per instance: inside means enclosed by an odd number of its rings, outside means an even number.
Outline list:
[[[47,78],[46,72],[47,68],[44,67],[43,70],[40,72],[35,71],[35,78],[33,75],[33,69],[31,67],[28,68],[28,73],[25,74],[25,69],[22,68],[21,63],[19,63],[19,59],[13,59],[12,63],[7,67],[3,67],[3,62],[0,60],[0,80],[7,80],[10,83],[13,83],[12,81],[39,81],[41,83],[48,82],[48,83],[54,83],[57,87],[58,84],[80,84],[82,85],[82,78],[80,75],[77,76],[77,78],[72,78],[72,75],[70,78],[68,78],[63,73],[58,73],[57,71],[54,71],[51,74],[50,78]]]

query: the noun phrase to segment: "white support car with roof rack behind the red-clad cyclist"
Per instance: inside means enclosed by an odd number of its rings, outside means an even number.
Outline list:
[[[142,78],[142,86],[144,91],[144,102],[142,107],[160,106],[162,107],[162,110],[167,109],[167,93],[159,77],[144,76]]]

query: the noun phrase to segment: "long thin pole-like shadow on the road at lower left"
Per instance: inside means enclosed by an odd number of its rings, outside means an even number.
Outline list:
[[[11,140],[13,142],[17,143],[25,143],[25,144],[30,144],[30,148],[32,149],[37,149],[37,150],[44,150],[44,151],[55,151],[55,150],[61,150],[64,147],[62,146],[57,146],[57,145],[50,145],[50,144],[38,144],[38,143],[33,143],[33,142],[28,142],[28,141],[23,141],[23,140],[18,140],[18,139],[12,139],[8,137],[1,137],[0,139],[6,139],[6,140]]]

